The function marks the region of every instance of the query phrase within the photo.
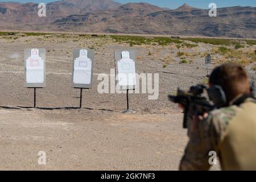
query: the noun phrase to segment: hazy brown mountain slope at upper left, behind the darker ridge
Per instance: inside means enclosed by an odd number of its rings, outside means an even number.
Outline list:
[[[73,14],[117,8],[121,4],[112,0],[63,0],[46,5],[46,17],[38,16],[38,3],[0,2],[0,27],[26,27],[52,23]]]

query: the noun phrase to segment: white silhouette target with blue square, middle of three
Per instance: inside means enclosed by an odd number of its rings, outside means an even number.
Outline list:
[[[92,60],[88,51],[81,49],[79,57],[74,60],[73,84],[90,84],[92,76]]]

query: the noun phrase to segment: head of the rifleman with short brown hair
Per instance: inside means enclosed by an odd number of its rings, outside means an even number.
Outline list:
[[[209,86],[220,85],[227,103],[240,94],[250,94],[250,82],[241,65],[228,63],[215,68],[209,77]]]

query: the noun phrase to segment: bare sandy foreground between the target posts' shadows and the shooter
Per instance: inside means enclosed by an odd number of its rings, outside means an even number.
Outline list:
[[[0,118],[1,170],[177,170],[187,143],[180,113],[15,107]]]

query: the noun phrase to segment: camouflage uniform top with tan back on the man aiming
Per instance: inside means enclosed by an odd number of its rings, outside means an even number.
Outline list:
[[[236,100],[234,100],[236,101]],[[251,149],[251,156],[248,156],[247,161],[242,158],[243,154],[239,153],[240,151],[246,151],[247,148],[240,148],[228,150],[228,152],[224,152],[226,149],[223,146],[228,146],[229,141],[226,141],[226,138],[229,137],[229,125],[233,122],[234,118],[236,118],[237,113],[242,113],[247,110],[249,114],[242,115],[239,119],[244,120],[247,117],[249,122],[247,127],[255,127],[256,126],[256,101],[253,98],[247,98],[242,106],[232,105],[234,102],[230,102],[230,106],[222,107],[220,109],[213,110],[209,113],[208,117],[198,123],[195,131],[189,132],[189,142],[187,147],[185,148],[185,154],[180,163],[180,170],[208,170],[210,168],[209,164],[209,152],[215,151],[217,153],[218,158],[220,159],[221,168],[224,170],[233,170],[233,169],[256,169],[256,134],[254,132],[246,135],[244,133],[240,133],[238,137],[242,138],[241,142],[237,142],[236,144],[241,146],[241,143],[245,143]],[[244,104],[246,103],[246,104]],[[243,119],[244,118],[244,119]],[[242,126],[244,121],[240,121],[238,125]],[[245,122],[246,123],[246,122]],[[253,123],[250,126],[250,123]],[[247,125],[247,124],[246,124]],[[238,126],[238,127],[240,127]],[[236,127],[236,128],[238,128]],[[253,131],[253,130],[251,130]],[[237,132],[239,133],[239,132]],[[242,135],[242,136],[241,136]],[[235,135],[236,136],[236,135]],[[233,137],[233,135],[232,135]],[[237,137],[237,138],[238,138]],[[236,138],[236,137],[233,137]],[[249,142],[247,142],[249,141]],[[247,143],[246,143],[247,142]],[[254,146],[253,146],[254,145]],[[239,147],[239,146],[238,146]],[[223,149],[224,148],[224,149]],[[232,148],[232,147],[230,147]],[[255,153],[253,151],[255,150]],[[238,152],[237,152],[238,151]],[[225,153],[225,158],[222,154]],[[225,160],[230,160],[229,162],[225,162]],[[234,162],[232,162],[234,160]],[[249,160],[251,162],[249,162]],[[250,164],[248,164],[250,163]]]

